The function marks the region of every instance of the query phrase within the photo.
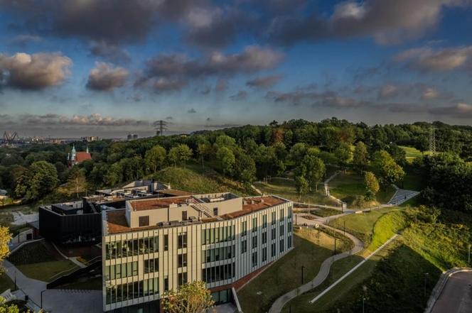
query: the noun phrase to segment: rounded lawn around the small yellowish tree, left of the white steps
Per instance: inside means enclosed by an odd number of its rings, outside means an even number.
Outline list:
[[[365,196],[366,190],[363,175],[353,171],[341,172],[334,177],[328,185],[331,194],[343,202],[346,202],[348,207],[361,208],[358,203],[356,203],[356,197]],[[377,192],[375,197],[377,202],[387,203],[392,198],[393,194],[395,194],[395,188],[389,186]],[[373,207],[378,204],[377,202],[366,203],[365,206]]]

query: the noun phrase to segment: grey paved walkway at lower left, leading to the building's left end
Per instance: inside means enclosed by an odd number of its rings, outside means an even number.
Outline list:
[[[102,292],[100,290],[58,290],[46,289],[46,282],[34,280],[23,275],[15,265],[4,260],[6,275],[15,280],[18,288],[29,296],[30,300],[41,306],[43,292],[43,308],[48,313],[102,313]]]

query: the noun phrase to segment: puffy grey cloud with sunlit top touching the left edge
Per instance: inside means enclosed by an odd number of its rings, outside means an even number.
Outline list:
[[[38,90],[61,84],[70,72],[72,60],[60,53],[0,54],[0,84]]]

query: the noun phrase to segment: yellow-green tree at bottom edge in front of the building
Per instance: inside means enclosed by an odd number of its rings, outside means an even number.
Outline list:
[[[162,304],[168,313],[205,313],[215,302],[205,282],[195,281],[166,292]]]

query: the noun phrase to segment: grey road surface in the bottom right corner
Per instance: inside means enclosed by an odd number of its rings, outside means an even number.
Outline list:
[[[431,313],[471,313],[472,272],[452,275],[446,282]]]

